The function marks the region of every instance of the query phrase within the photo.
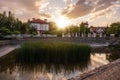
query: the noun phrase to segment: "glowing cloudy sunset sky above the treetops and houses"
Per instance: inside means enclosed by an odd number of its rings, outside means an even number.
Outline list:
[[[120,0],[0,0],[0,12],[9,10],[22,21],[47,18],[66,24],[88,21],[93,26],[120,21]]]

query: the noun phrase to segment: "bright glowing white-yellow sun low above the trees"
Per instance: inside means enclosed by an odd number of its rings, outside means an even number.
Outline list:
[[[55,22],[56,22],[58,28],[62,28],[63,29],[63,28],[65,28],[65,27],[67,27],[69,25],[70,20],[67,19],[64,16],[60,16],[60,17],[56,18]]]

